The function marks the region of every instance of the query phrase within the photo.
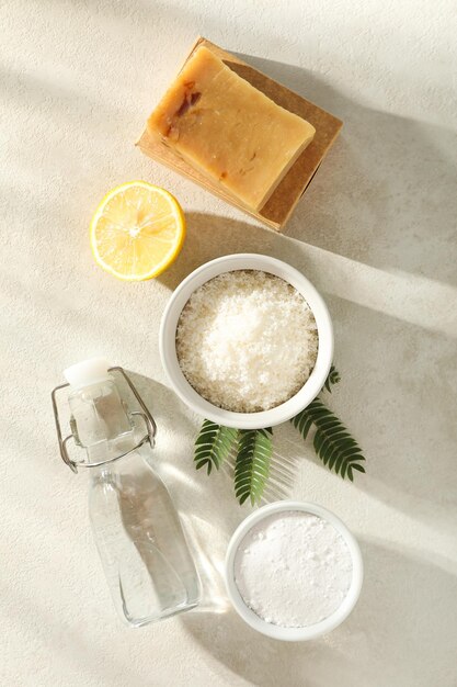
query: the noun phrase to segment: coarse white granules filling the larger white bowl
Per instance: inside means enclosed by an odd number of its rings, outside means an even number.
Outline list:
[[[297,393],[316,363],[312,312],[296,289],[273,274],[236,270],[197,289],[176,329],[188,383],[228,410],[273,408]]]

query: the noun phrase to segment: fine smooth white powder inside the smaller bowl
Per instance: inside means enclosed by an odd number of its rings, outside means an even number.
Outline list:
[[[327,520],[298,510],[278,513],[241,541],[235,582],[260,618],[283,628],[302,628],[341,606],[352,582],[352,556]]]

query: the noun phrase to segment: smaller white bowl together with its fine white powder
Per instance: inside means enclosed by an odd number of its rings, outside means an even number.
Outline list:
[[[233,533],[226,584],[235,610],[254,630],[285,641],[311,640],[347,618],[363,582],[358,544],[322,506],[276,502]]]

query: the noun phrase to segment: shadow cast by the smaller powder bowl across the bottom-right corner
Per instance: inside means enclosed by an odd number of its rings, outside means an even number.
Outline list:
[[[365,581],[358,604],[320,640],[277,642],[251,630],[232,610],[188,613],[181,621],[208,653],[261,687],[433,685],[436,665],[450,665],[457,650],[447,609],[457,593],[456,576],[380,542],[364,540],[361,547]]]

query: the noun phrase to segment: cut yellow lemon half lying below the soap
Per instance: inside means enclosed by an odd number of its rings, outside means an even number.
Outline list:
[[[91,226],[98,264],[126,281],[157,277],[179,255],[185,237],[183,211],[164,189],[129,181],[110,191]]]

